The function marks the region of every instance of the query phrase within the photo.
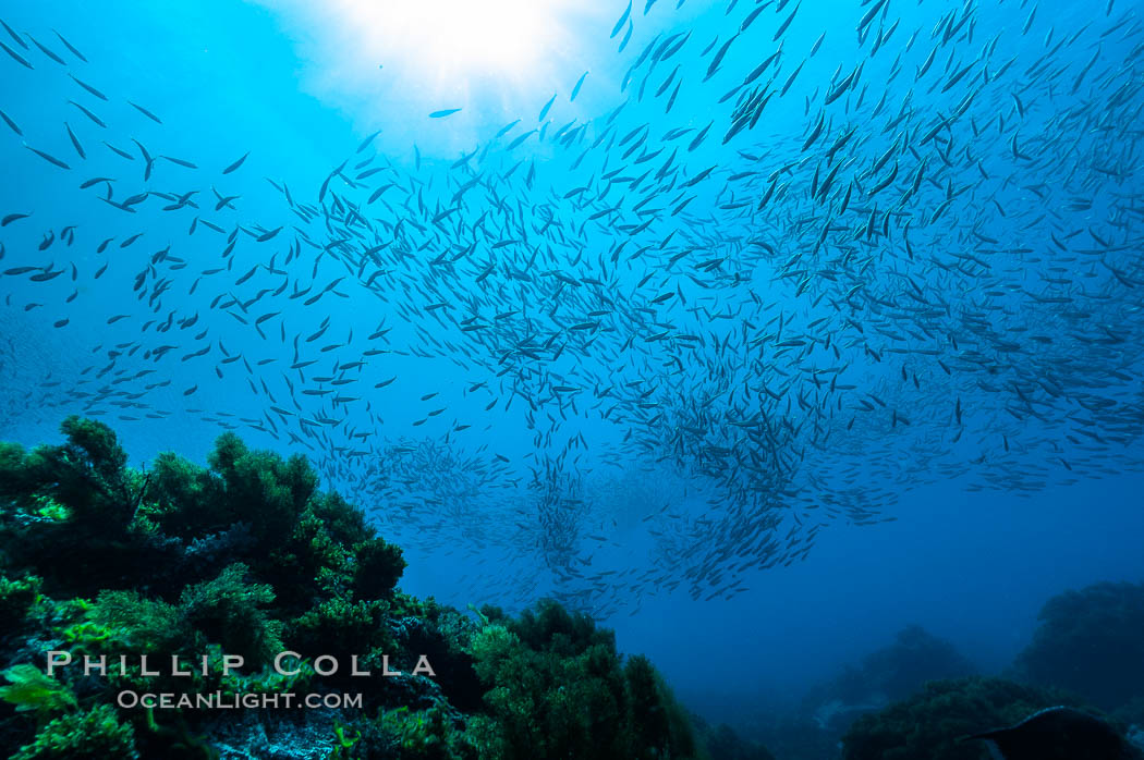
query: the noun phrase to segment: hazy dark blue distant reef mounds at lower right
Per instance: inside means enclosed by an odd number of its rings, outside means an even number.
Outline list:
[[[800,703],[748,709],[734,725],[781,760],[978,760],[991,757],[985,744],[961,737],[1066,705],[1144,751],[1142,590],[1099,583],[1052,597],[1033,640],[996,678],[909,625]]]

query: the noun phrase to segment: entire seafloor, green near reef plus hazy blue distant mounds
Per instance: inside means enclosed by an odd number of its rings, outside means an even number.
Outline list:
[[[402,550],[302,457],[225,434],[206,466],[167,454],[144,472],[103,423],[62,432],[0,445],[0,747],[17,760],[977,760],[963,737],[1054,705],[1095,717],[1115,757],[1144,739],[1144,585],[1052,599],[1002,677],[907,629],[801,713],[747,727],[769,750],[689,713],[583,614],[403,593]]]

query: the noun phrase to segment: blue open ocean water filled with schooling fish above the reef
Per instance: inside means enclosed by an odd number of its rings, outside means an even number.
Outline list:
[[[1144,581],[1141,10],[0,3],[2,438],[304,454],[748,735],[1003,672]]]

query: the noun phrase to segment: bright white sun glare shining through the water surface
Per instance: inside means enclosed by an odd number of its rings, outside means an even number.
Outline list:
[[[257,1],[295,40],[307,91],[352,114],[363,134],[384,123],[382,142],[450,155],[482,128],[566,96],[601,58],[583,40],[598,39],[611,13],[572,0]],[[454,109],[440,123],[407,121]],[[395,123],[395,113],[405,118]]]

